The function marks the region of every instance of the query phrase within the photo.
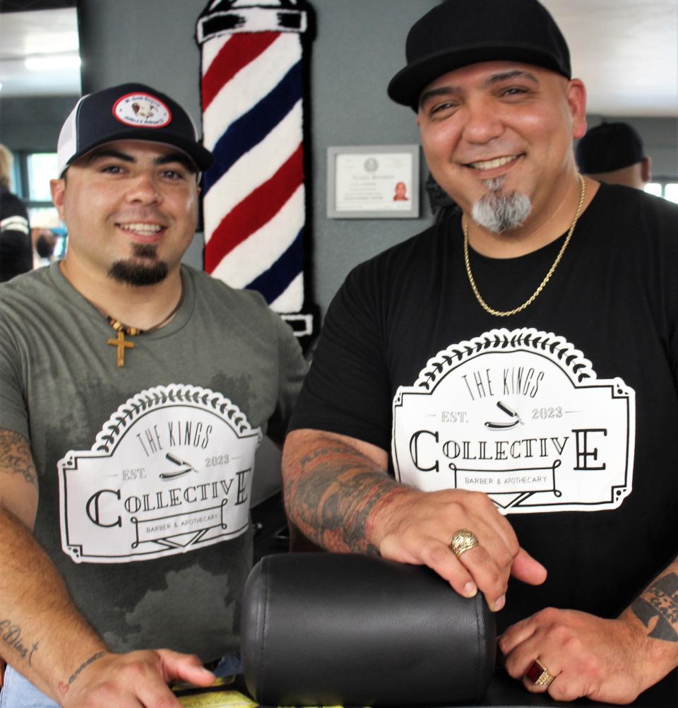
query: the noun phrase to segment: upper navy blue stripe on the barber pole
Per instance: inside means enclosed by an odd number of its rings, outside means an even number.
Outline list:
[[[212,149],[214,165],[207,170],[203,189],[212,185],[246,152],[260,143],[301,99],[301,63],[294,64],[267,96],[231,123]]]

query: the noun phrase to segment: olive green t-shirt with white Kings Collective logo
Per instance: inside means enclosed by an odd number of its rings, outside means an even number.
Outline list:
[[[260,295],[182,273],[124,367],[57,264],[0,286],[0,428],[30,441],[35,537],[111,649],[209,661],[239,646],[255,450],[282,440],[306,364]]]

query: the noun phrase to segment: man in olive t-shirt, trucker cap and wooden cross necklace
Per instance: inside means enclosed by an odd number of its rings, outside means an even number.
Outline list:
[[[168,682],[238,670],[255,450],[306,367],[258,293],[181,264],[212,155],[176,101],[92,93],[57,152],[67,255],[0,287],[0,703],[178,707]]]

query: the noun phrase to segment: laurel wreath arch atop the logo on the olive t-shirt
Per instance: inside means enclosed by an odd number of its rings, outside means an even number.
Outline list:
[[[222,394],[188,384],[170,384],[145,389],[125,401],[104,423],[92,446],[93,452],[109,454],[125,429],[142,413],[167,404],[195,404],[218,411],[239,436],[252,430],[245,414]]]

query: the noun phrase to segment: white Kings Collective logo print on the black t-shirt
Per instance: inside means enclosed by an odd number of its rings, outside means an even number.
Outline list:
[[[396,477],[488,493],[507,512],[617,508],[631,493],[636,394],[564,338],[495,329],[432,358],[393,400]]]

